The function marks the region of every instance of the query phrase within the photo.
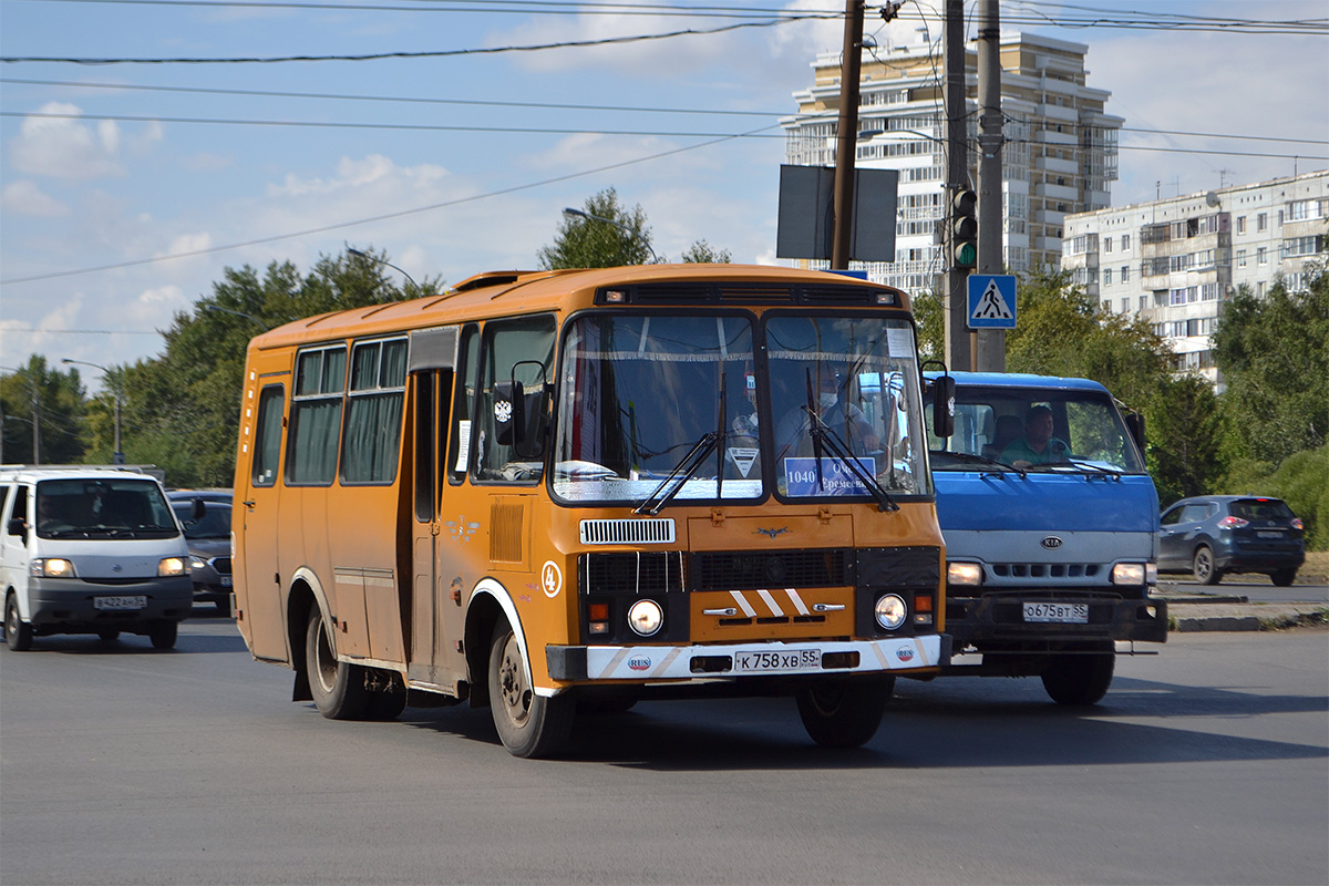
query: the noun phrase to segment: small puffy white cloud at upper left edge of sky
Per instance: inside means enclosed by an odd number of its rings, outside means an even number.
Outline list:
[[[82,114],[77,105],[47,102],[40,113]],[[86,179],[124,175],[116,159],[120,135],[112,121],[94,134],[78,120],[27,117],[9,139],[9,163],[20,173],[52,178]]]

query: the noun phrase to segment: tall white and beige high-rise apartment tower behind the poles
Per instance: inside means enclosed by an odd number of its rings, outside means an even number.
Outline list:
[[[896,260],[863,267],[873,280],[909,292],[945,274],[938,242],[944,218],[946,126],[940,45],[870,48],[863,56],[856,165],[900,170]],[[1111,205],[1120,117],[1104,113],[1111,93],[1086,84],[1088,46],[1037,35],[1002,35],[1003,251],[1011,272],[1057,267],[1069,214]],[[966,48],[970,183],[978,177],[978,54]],[[817,56],[813,85],[793,94],[799,113],[780,122],[785,162],[835,166],[840,53]],[[977,190],[977,187],[974,189]]]

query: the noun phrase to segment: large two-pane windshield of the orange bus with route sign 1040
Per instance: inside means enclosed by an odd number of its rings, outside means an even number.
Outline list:
[[[566,501],[930,491],[905,319],[781,312],[758,331],[748,315],[589,313],[561,365],[553,491]]]

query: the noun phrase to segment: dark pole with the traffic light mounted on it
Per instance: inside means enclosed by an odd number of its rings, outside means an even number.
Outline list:
[[[965,280],[969,271],[956,260],[949,230],[952,202],[969,187],[969,121],[965,114],[965,3],[946,0],[946,21],[942,29],[945,54],[945,89],[942,109],[946,114],[946,190],[942,207],[942,254],[946,256],[946,365],[957,371],[973,369],[969,331],[969,294]]]

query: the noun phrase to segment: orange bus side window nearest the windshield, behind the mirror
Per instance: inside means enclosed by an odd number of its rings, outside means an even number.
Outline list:
[[[513,446],[498,442],[496,408],[502,401],[496,396],[496,385],[516,383],[513,396],[545,402],[538,395],[554,364],[554,319],[550,316],[502,320],[485,325],[484,383],[480,388],[480,406],[476,414],[476,464],[473,478],[488,482],[538,482],[544,476],[544,454],[530,453],[530,445]],[[526,416],[528,429],[538,429],[544,416]]]

